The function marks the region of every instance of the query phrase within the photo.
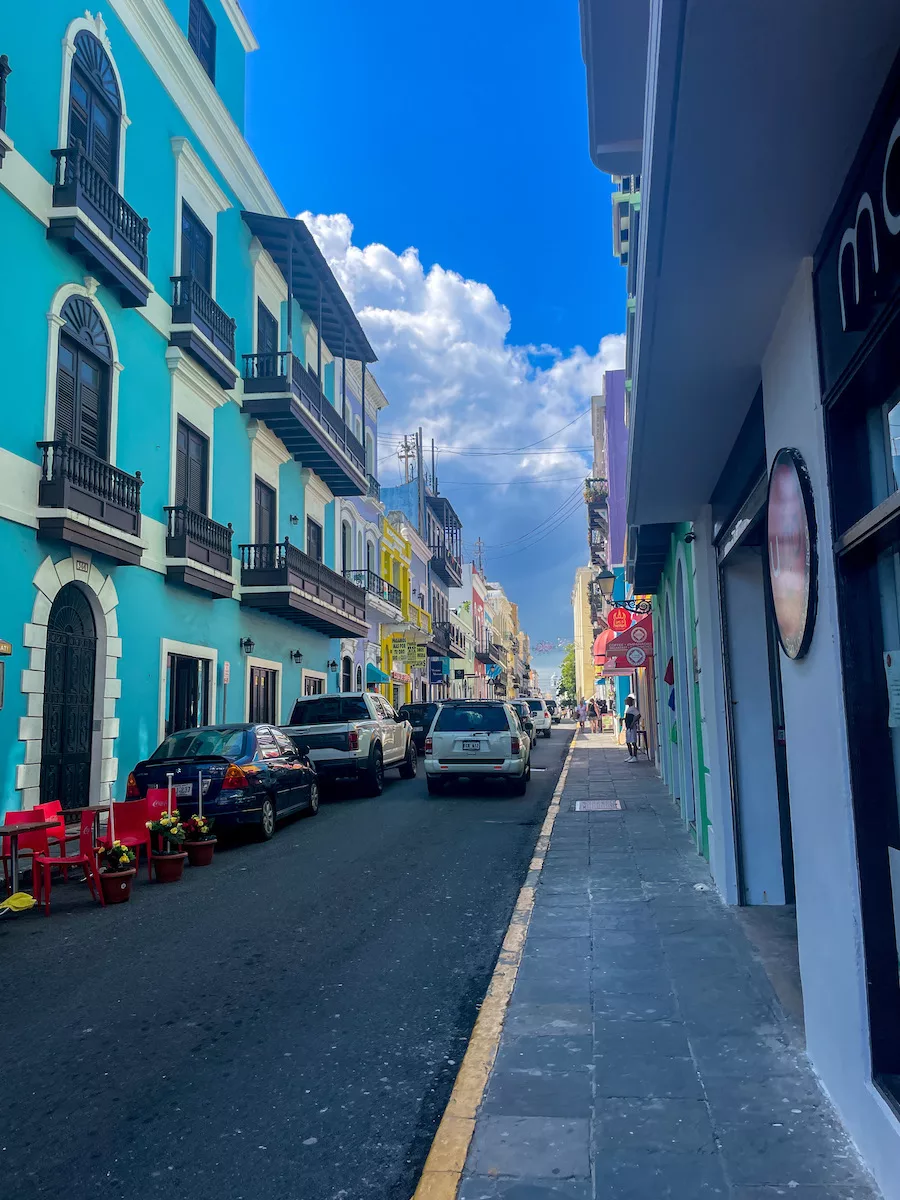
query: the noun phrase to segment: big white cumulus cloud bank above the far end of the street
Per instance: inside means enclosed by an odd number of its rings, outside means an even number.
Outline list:
[[[583,510],[547,526],[545,536],[539,523],[589,470],[590,454],[560,451],[590,444],[589,419],[576,418],[600,391],[604,372],[624,365],[624,335],[569,353],[512,344],[509,310],[486,283],[438,264],[426,268],[413,247],[358,246],[342,212],[301,212],[300,220],[378,354],[373,371],[390,404],[379,421],[382,482],[398,481],[392,439],[421,426],[426,446],[431,438],[439,446],[442,491],[463,520],[467,546],[476,536],[487,544],[488,574],[521,602],[535,641],[571,636],[572,572],[587,557]],[[534,443],[515,455],[470,452]],[[552,482],[503,482],[523,478]]]

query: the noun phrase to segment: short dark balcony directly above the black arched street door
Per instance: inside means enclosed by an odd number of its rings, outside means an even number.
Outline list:
[[[140,472],[128,475],[64,437],[38,442],[42,452],[37,536],[67,541],[137,565],[140,539]]]

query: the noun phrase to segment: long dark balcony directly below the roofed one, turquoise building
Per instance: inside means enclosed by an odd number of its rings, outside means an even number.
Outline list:
[[[284,541],[244,545],[241,604],[329,637],[365,637],[366,593]]]

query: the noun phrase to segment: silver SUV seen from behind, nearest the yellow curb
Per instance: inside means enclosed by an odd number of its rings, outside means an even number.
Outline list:
[[[451,778],[492,775],[506,780],[514,796],[524,796],[532,778],[530,750],[509,704],[484,700],[442,704],[425,739],[428,792],[439,792]]]

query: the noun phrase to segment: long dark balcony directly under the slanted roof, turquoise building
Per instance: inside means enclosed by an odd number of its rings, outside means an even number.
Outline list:
[[[366,496],[366,452],[295,354],[244,355],[244,412],[265,421],[335,496]]]

